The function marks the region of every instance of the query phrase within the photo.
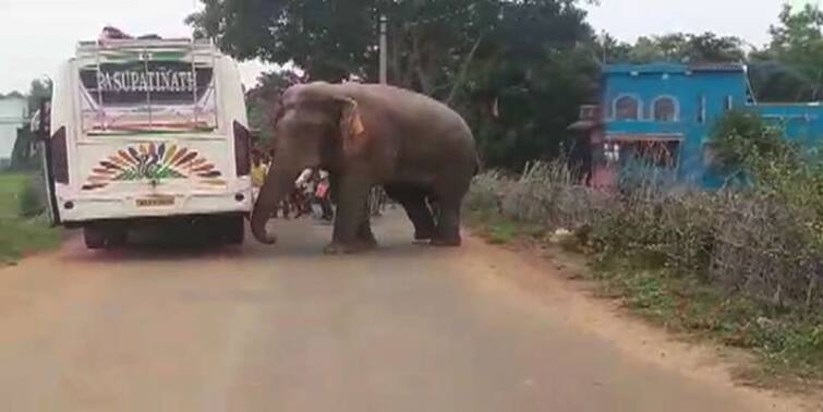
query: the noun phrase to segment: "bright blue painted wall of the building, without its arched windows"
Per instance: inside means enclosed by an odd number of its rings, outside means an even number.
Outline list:
[[[632,96],[640,101],[640,119],[616,120],[615,101]],[[678,102],[671,122],[652,117],[653,101],[669,96]],[[627,136],[636,140],[680,138],[678,177],[706,187],[717,187],[724,177],[713,174],[705,163],[704,145],[716,121],[728,109],[748,109],[783,128],[785,136],[800,142],[823,137],[823,106],[819,104],[759,105],[751,101],[743,66],[710,69],[682,64],[610,65],[602,78],[605,142]],[[596,146],[595,146],[596,149]]]

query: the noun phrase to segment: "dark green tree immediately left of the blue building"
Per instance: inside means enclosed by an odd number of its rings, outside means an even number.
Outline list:
[[[472,64],[462,101],[486,165],[557,156],[579,105],[596,96],[585,13],[569,2],[508,3]]]

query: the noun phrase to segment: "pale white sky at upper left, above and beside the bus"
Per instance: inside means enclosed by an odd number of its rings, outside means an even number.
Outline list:
[[[78,40],[94,40],[106,25],[125,33],[189,37],[183,20],[196,0],[0,0],[0,93],[28,92],[32,80],[52,76]],[[241,64],[246,85],[262,64]]]

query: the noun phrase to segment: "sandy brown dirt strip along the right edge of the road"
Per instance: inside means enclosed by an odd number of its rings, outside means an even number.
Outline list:
[[[484,279],[484,287],[509,289],[521,299],[540,301],[549,316],[598,336],[627,356],[740,392],[775,411],[823,411],[823,393],[801,392],[794,387],[764,389],[742,380],[738,371],[754,362],[750,354],[689,341],[688,336],[669,334],[632,316],[619,300],[598,298],[596,286],[583,280],[583,275],[591,269],[582,256],[527,241],[493,245],[476,234],[469,243],[491,260],[498,262],[493,268],[496,269],[494,276]],[[511,265],[530,270],[505,269]]]

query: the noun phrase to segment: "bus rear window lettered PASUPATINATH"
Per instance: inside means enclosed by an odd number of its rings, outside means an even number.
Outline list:
[[[214,65],[193,54],[100,52],[80,70],[85,134],[213,131]]]

